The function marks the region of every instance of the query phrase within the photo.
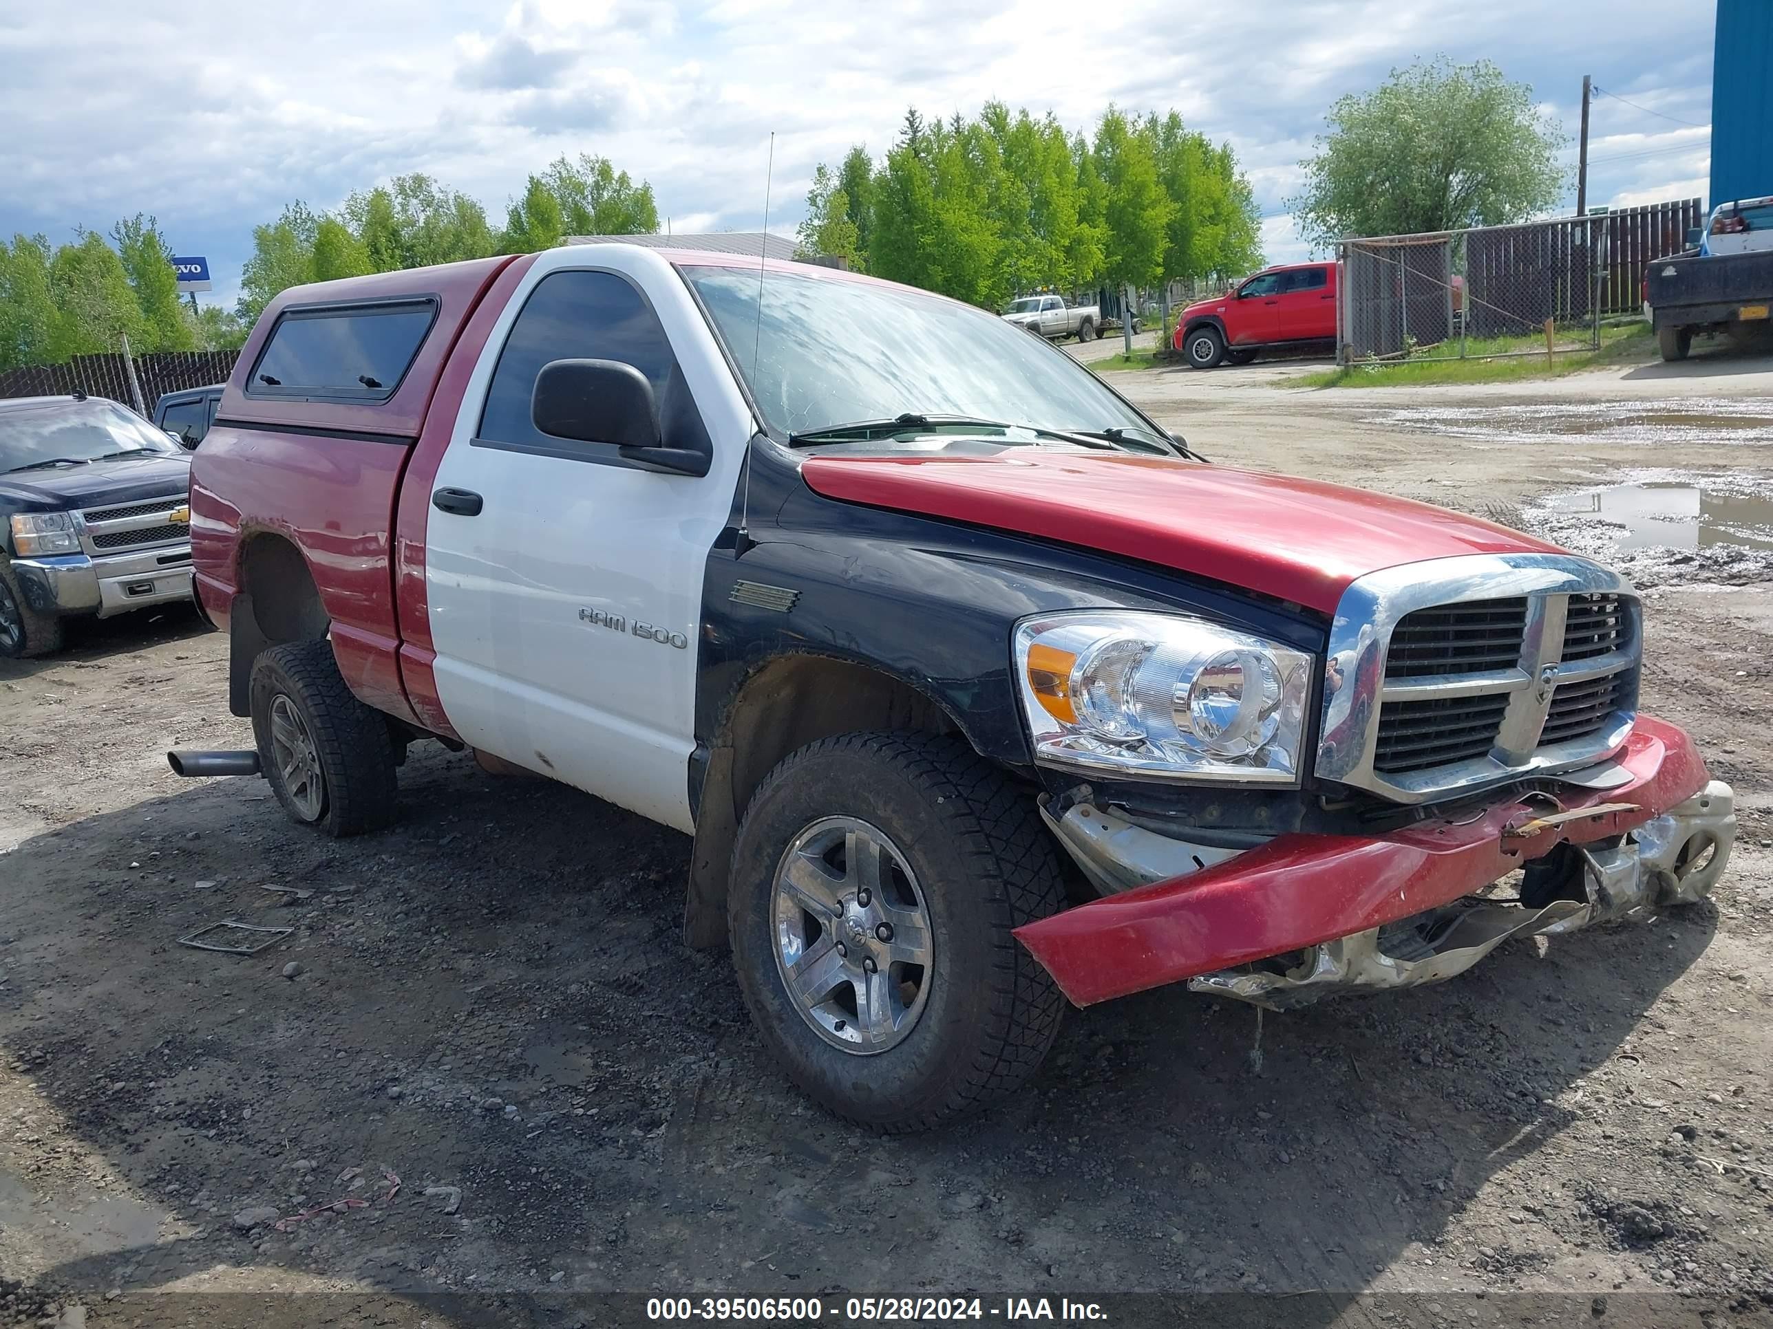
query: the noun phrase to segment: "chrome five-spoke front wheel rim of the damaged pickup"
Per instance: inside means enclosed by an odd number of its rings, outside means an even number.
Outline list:
[[[917,874],[886,835],[821,817],[777,865],[769,905],[777,971],[794,1010],[856,1056],[897,1047],[934,976],[934,936]]]

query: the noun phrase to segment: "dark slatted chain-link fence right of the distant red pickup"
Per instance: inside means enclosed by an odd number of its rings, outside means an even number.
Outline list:
[[[1654,259],[1677,253],[1699,200],[1592,216],[1378,236],[1337,245],[1337,361],[1594,351],[1635,314]]]

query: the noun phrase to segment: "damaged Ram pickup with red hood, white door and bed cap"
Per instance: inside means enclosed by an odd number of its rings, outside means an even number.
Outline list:
[[[1002,319],[824,268],[287,291],[191,540],[257,750],[176,769],[351,835],[436,739],[693,835],[686,939],[878,1129],[1025,1084],[1066,998],[1436,982],[1697,900],[1734,838],[1608,569],[1202,464]]]

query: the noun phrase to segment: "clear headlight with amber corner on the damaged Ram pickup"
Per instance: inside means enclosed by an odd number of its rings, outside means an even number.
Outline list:
[[[1202,618],[1082,610],[1016,627],[1016,677],[1048,766],[1135,780],[1294,785],[1312,657]]]

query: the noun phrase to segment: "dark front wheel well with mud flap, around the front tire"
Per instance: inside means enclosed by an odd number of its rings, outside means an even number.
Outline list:
[[[700,764],[695,845],[684,893],[684,941],[727,941],[727,877],[739,820],[777,764],[808,742],[863,730],[957,734],[954,712],[911,679],[878,664],[787,652],[759,663],[732,689]]]

